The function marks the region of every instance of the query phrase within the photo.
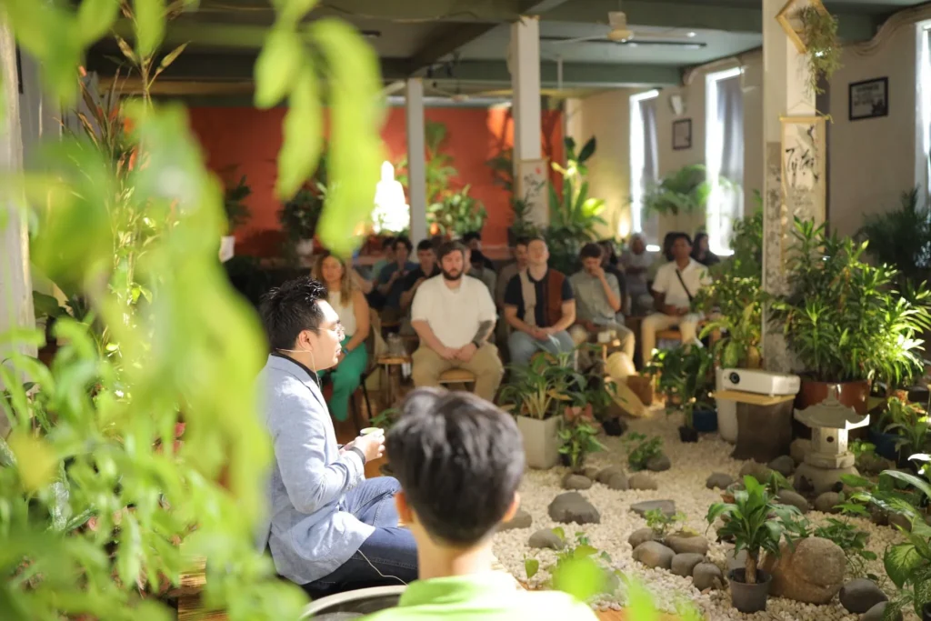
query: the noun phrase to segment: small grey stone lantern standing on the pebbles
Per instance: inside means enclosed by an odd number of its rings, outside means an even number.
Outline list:
[[[839,491],[841,476],[856,475],[854,454],[847,451],[847,436],[851,429],[870,424],[870,415],[858,414],[843,405],[837,395],[840,387],[831,390],[821,403],[795,412],[795,419],[811,427],[812,448],[795,471],[795,487],[814,488],[816,495]],[[807,484],[802,479],[807,479]]]

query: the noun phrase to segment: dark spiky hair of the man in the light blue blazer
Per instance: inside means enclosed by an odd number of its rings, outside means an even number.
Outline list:
[[[305,330],[317,331],[323,311],[317,302],[327,299],[327,288],[309,276],[294,278],[269,290],[260,314],[272,349],[292,349]]]

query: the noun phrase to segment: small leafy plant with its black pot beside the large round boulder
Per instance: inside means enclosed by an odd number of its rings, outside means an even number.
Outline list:
[[[733,503],[715,503],[708,508],[708,528],[719,518],[723,525],[718,529],[722,539],[731,538],[735,552],[747,550],[747,564],[735,569],[728,578],[731,581],[731,602],[741,613],[756,613],[766,610],[769,584],[773,576],[758,569],[760,552],[779,553],[782,539],[783,517],[798,514],[794,506],[776,503],[766,488],[753,477],[744,477],[743,490],[734,493]],[[772,516],[779,520],[773,520]]]

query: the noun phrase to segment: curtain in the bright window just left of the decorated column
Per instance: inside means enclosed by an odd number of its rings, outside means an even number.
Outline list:
[[[710,162],[724,182],[716,187],[708,202],[708,238],[714,251],[730,250],[731,227],[744,215],[744,94],[740,75],[717,80],[714,83],[717,102],[716,130],[719,133],[717,161]],[[717,180],[712,179],[712,183]]]

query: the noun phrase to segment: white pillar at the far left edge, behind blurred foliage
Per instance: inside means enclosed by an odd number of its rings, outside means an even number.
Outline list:
[[[0,72],[4,75],[0,99],[4,115],[0,119],[0,174],[16,174],[22,169],[20,128],[20,88],[17,81],[16,43],[13,33],[0,17]],[[25,79],[25,76],[23,76]],[[22,196],[0,195],[0,334],[14,328],[32,328],[33,287],[29,275],[29,236],[22,213]],[[17,345],[23,354],[35,356],[35,348]],[[9,345],[0,344],[0,360],[7,358]],[[0,385],[0,389],[3,385]],[[0,416],[0,435],[9,429]]]

